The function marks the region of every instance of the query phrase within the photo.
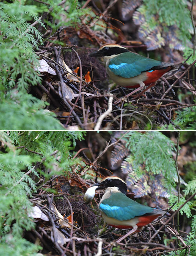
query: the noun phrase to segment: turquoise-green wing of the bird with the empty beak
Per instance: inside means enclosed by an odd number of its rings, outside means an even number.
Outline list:
[[[115,75],[131,78],[154,67],[164,66],[163,63],[135,53],[125,52],[112,58],[108,67]]]

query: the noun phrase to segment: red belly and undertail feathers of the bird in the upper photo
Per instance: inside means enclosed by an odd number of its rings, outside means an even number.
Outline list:
[[[152,72],[146,72],[147,74],[147,80],[143,81],[145,85],[152,84],[153,82],[156,82],[160,77],[162,77],[163,74],[168,72],[172,67],[164,68],[164,69],[156,69]],[[139,84],[135,84],[132,86],[125,86],[126,88],[138,88],[140,87]]]

